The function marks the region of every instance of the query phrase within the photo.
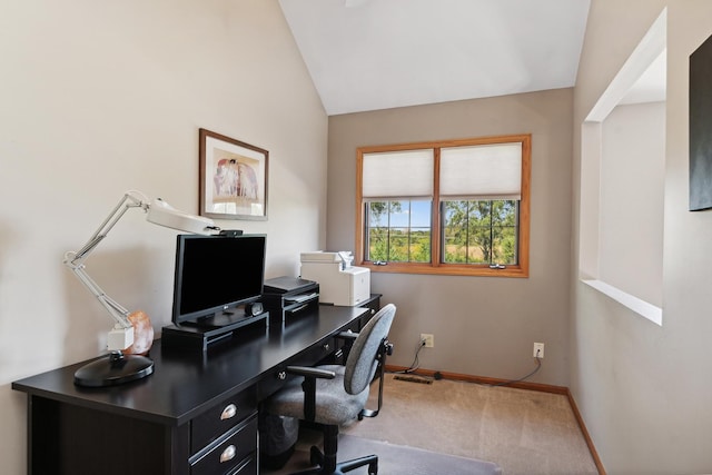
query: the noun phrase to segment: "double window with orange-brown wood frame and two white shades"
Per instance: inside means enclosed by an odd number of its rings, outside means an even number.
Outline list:
[[[528,276],[530,169],[528,135],[359,148],[356,261]]]

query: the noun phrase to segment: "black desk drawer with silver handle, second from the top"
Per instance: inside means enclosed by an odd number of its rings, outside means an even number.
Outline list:
[[[243,474],[246,462],[257,457],[257,414],[244,424],[226,434],[225,441],[218,443],[205,454],[198,454],[190,461],[191,475]]]

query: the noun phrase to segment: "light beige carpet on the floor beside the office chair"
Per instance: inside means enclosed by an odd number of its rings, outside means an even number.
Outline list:
[[[368,407],[376,406],[377,383]],[[505,475],[597,475],[566,396],[386,375],[384,407],[342,429],[395,445],[490,461]]]

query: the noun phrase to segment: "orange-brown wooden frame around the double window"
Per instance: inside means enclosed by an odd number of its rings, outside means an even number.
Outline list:
[[[441,261],[441,198],[439,198],[439,158],[441,149],[448,147],[467,147],[478,145],[496,145],[507,142],[522,144],[522,199],[520,200],[518,224],[518,264],[505,268],[491,268],[488,264],[446,264]],[[433,174],[433,206],[431,209],[431,263],[387,263],[375,265],[364,260],[364,245],[366,241],[366,210],[363,198],[363,166],[365,154],[388,151],[405,151],[418,149],[434,150]],[[531,201],[531,169],[532,169],[532,136],[531,133],[481,137],[458,140],[441,140],[415,144],[397,144],[386,146],[359,147],[356,149],[356,249],[354,264],[369,268],[374,273],[396,274],[434,274],[451,276],[488,276],[488,277],[528,277],[530,274],[530,201]]]

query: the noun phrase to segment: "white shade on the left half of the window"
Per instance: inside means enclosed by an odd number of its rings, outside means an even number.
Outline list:
[[[431,198],[433,150],[405,150],[363,156],[363,197]]]

